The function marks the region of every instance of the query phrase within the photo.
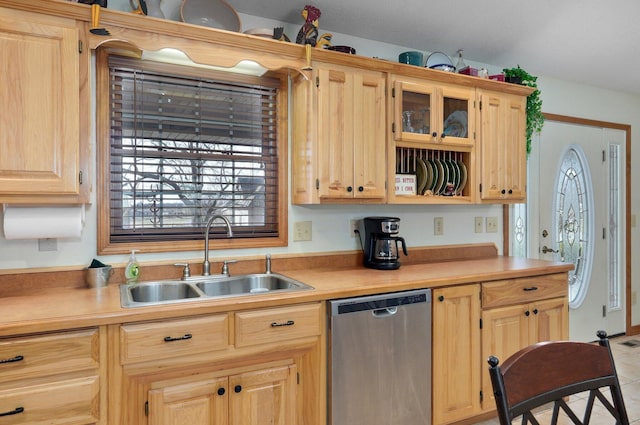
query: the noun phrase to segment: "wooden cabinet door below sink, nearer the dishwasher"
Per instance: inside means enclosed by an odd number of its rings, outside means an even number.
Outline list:
[[[296,366],[229,377],[229,425],[298,425]]]

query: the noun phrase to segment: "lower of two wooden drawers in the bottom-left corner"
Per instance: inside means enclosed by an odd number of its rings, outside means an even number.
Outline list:
[[[100,419],[97,376],[0,391],[4,424],[84,425]]]

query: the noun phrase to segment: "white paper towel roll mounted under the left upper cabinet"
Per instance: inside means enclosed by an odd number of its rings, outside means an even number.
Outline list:
[[[79,238],[83,225],[84,205],[4,208],[7,239]]]

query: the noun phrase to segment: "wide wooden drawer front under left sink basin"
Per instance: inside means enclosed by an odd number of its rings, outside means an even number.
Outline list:
[[[229,347],[229,315],[218,314],[120,327],[122,364]]]

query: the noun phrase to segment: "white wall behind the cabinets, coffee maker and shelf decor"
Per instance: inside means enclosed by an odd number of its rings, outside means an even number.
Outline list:
[[[178,0],[165,0],[164,7],[168,14],[176,16]],[[109,0],[109,7],[128,10],[128,0]],[[241,15],[243,29],[254,27],[273,27],[276,22],[261,18]],[[286,25],[287,34],[294,35],[299,25]],[[347,44],[355,47],[358,54],[376,56],[396,60],[400,52],[414,50],[411,47],[395,46],[385,43],[371,42],[356,37],[334,33],[334,44]],[[437,50],[437,46],[431,46]],[[427,53],[427,52],[425,52]],[[467,61],[469,65],[484,66],[491,73],[499,72],[502,66],[477,64]],[[507,64],[512,66],[513,64]],[[574,115],[583,118],[615,121],[640,125],[640,96],[631,96],[600,90],[594,87],[577,85],[568,81],[550,78],[539,79],[542,91],[543,110],[557,114]],[[95,143],[95,142],[94,142]],[[95,152],[95,150],[94,150]],[[638,162],[638,154],[634,154],[634,162]],[[532,170],[536,175],[537,170]],[[637,171],[636,171],[637,172]],[[637,177],[637,176],[636,176]],[[94,179],[95,181],[95,179]],[[632,210],[638,209],[637,201]],[[87,223],[79,240],[58,240],[58,250],[53,252],[39,252],[38,242],[9,241],[0,237],[0,270],[53,266],[78,266],[90,263],[96,257],[96,205],[95,194],[93,204],[87,208]],[[401,218],[401,235],[405,237],[409,246],[427,246],[458,243],[495,243],[501,249],[502,227],[498,233],[474,233],[474,217],[502,215],[499,205],[473,206],[289,206],[289,234],[293,234],[292,227],[296,221],[311,220],[313,222],[313,240],[311,242],[290,242],[288,247],[273,249],[243,249],[216,251],[211,253],[213,258],[241,258],[247,255],[263,253],[301,253],[322,252],[336,250],[359,249],[356,238],[350,235],[349,223],[351,219],[370,215],[390,215]],[[433,218],[444,217],[444,235],[433,235]],[[500,222],[500,220],[499,220]],[[1,225],[0,225],[1,226]],[[0,229],[1,230],[1,229]],[[638,252],[636,230],[634,232],[634,252]],[[183,252],[167,254],[144,254],[139,259],[144,266],[146,261],[199,259],[202,252]],[[100,260],[110,264],[123,264],[126,255],[100,257]]]

